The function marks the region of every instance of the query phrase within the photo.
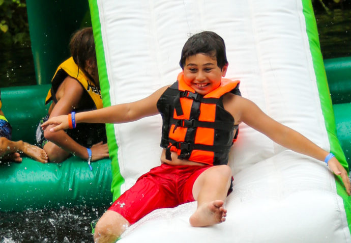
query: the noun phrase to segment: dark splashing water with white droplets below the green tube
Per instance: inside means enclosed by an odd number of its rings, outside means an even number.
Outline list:
[[[79,206],[58,209],[0,212],[0,243],[93,242],[91,223],[97,221],[108,206]]]

